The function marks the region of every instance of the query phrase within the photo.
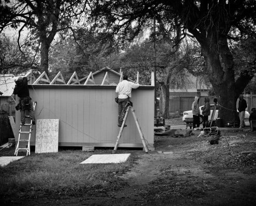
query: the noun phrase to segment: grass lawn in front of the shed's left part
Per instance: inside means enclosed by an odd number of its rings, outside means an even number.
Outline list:
[[[14,149],[9,152],[13,156]],[[97,153],[110,152],[99,150]],[[125,182],[118,181],[117,175],[129,170],[136,155],[133,153],[128,161],[119,164],[79,164],[95,153],[81,150],[32,153],[31,156],[0,167],[0,196],[79,196],[84,192],[121,187]],[[0,155],[8,156],[1,152]]]

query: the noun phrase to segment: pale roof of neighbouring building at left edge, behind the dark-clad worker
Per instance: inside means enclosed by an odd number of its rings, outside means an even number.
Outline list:
[[[15,87],[14,80],[17,80],[23,75],[13,74],[0,74],[0,92],[3,92],[2,96],[11,96]]]

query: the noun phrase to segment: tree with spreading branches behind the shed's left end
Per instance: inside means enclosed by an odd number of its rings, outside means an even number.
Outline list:
[[[0,33],[8,26],[21,33],[31,33],[40,45],[40,68],[48,73],[49,48],[57,32],[71,28],[86,11],[87,0],[17,0],[1,1]]]

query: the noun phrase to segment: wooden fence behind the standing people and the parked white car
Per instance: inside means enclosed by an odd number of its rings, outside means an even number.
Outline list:
[[[204,98],[208,97],[210,99],[210,104],[214,104],[214,96],[201,96],[199,99],[199,106],[204,105]],[[247,111],[250,112],[251,108],[256,108],[256,94],[244,95],[247,102]],[[170,97],[170,113],[171,114],[180,114],[182,115],[184,111],[191,110],[192,103],[194,101],[194,96],[192,97]],[[238,106],[238,101],[237,101]]]

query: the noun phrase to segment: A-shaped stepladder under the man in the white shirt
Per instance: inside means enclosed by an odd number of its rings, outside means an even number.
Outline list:
[[[132,115],[133,115],[135,124],[136,124],[137,129],[138,129],[138,131],[139,131],[139,133],[140,133],[141,141],[142,141],[143,147],[144,147],[144,149],[145,149],[145,152],[148,153],[148,148],[147,148],[147,145],[146,145],[146,140],[145,140],[144,135],[143,135],[143,133],[142,133],[140,124],[139,124],[139,122],[138,122],[138,118],[137,118],[136,115],[135,115],[135,110],[132,108],[132,106],[129,105],[129,102],[128,102],[127,104],[128,104],[128,107],[127,107],[127,109],[126,109],[125,117],[124,117],[124,119],[123,119],[123,124],[122,124],[121,129],[120,129],[120,131],[119,131],[119,134],[118,134],[118,136],[117,136],[116,143],[115,143],[115,147],[114,147],[112,153],[114,154],[114,153],[116,152],[116,150],[117,150],[118,142],[119,142],[119,140],[120,140],[120,138],[121,138],[121,135],[122,135],[122,132],[123,132],[123,129],[124,129],[124,125],[125,125],[125,122],[126,122],[126,119],[127,119],[128,113],[129,113],[129,110],[131,110],[131,112],[132,112]],[[126,107],[125,107],[125,108],[126,108]]]

